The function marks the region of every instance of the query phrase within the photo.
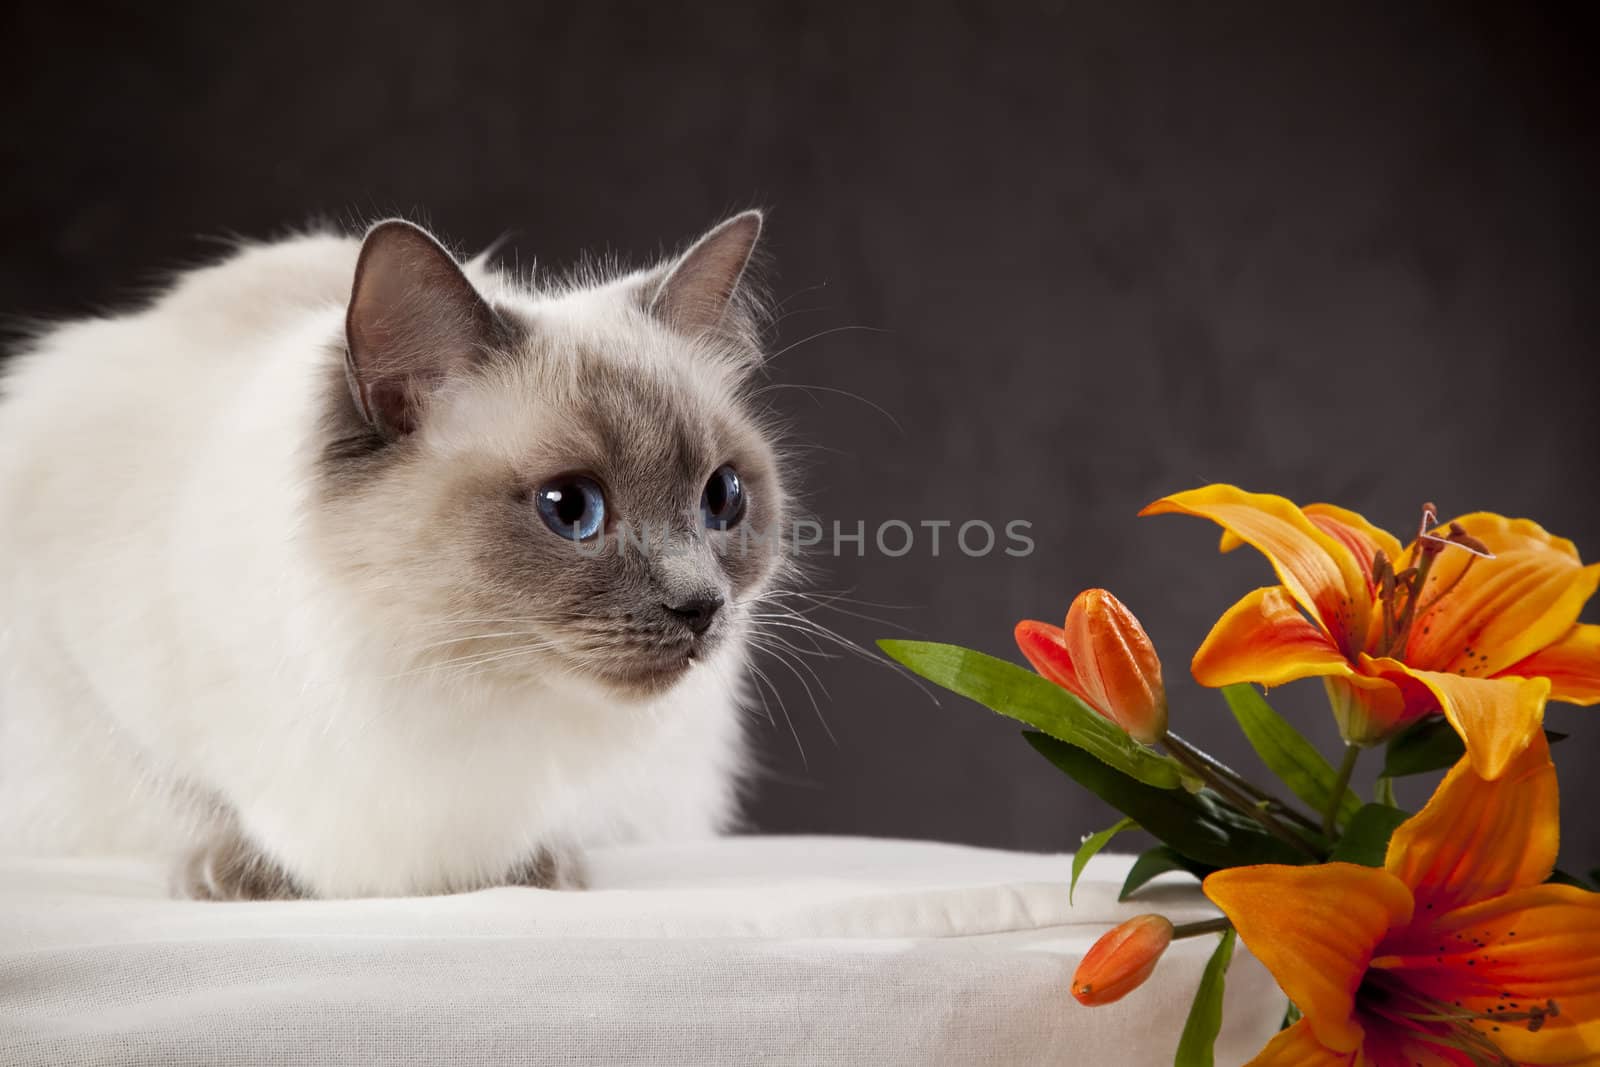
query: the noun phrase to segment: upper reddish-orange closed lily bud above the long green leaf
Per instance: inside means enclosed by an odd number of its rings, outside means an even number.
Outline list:
[[[1085,589],[1064,627],[1024,621],[1016,643],[1034,670],[1144,744],[1166,733],[1162,661],[1133,613],[1104,589]]]

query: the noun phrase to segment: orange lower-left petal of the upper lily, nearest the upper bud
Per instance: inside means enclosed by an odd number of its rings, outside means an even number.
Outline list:
[[[1195,681],[1266,686],[1331,673],[1354,673],[1350,661],[1301,614],[1282,585],[1250,592],[1218,619],[1195,653]]]

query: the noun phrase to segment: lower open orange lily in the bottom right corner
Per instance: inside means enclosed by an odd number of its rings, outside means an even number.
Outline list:
[[[1555,846],[1539,733],[1493,782],[1462,758],[1382,869],[1210,875],[1304,1016],[1253,1064],[1600,1064],[1600,894],[1544,885]]]

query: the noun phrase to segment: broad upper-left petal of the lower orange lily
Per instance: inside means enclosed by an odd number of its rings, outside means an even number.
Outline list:
[[[1378,942],[1411,918],[1405,883],[1355,864],[1267,864],[1218,870],[1203,889],[1306,1013],[1317,1041],[1334,1053],[1358,1049],[1355,990]]]

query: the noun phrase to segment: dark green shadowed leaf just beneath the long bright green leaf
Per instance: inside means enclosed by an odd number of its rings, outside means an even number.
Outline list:
[[[1208,789],[1197,793],[1154,789],[1048,734],[1029,729],[1022,736],[1058,769],[1195,862],[1210,867],[1310,862]]]

